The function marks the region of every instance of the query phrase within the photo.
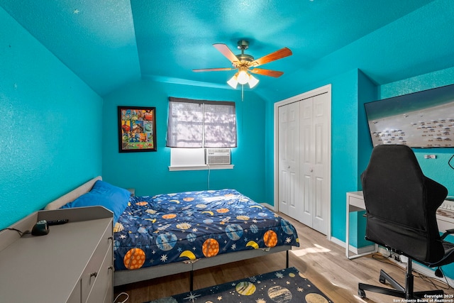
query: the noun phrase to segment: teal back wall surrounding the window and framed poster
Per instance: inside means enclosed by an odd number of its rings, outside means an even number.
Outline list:
[[[235,101],[238,148],[232,149],[233,170],[169,171],[170,148],[165,147],[168,97]],[[117,106],[154,106],[157,151],[118,153]],[[134,187],[138,195],[187,190],[235,188],[256,202],[265,197],[265,101],[253,92],[170,84],[144,79],[104,98],[103,177],[121,187]]]

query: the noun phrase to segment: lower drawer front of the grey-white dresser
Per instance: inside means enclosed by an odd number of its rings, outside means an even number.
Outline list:
[[[114,282],[114,265],[112,264],[112,251],[108,250],[104,256],[104,261],[101,265],[96,280],[93,283],[87,303],[113,302],[113,282]]]

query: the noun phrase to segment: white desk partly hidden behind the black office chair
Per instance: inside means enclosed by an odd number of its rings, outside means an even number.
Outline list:
[[[368,255],[375,253],[378,250],[378,246],[375,244],[374,248],[365,253],[359,253],[357,255],[350,255],[350,212],[353,211],[364,211],[366,209],[364,203],[364,196],[362,192],[347,192],[347,219],[345,221],[345,256],[349,259],[361,257],[362,255]],[[454,202],[445,201],[437,211],[437,224],[438,229],[442,233],[447,229],[454,228]]]

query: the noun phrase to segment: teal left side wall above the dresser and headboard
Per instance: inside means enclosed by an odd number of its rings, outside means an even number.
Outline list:
[[[0,228],[101,174],[102,99],[0,8]]]

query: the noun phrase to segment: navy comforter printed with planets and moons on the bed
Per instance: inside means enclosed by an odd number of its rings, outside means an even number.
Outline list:
[[[131,197],[114,227],[116,270],[282,245],[294,226],[234,189]]]

